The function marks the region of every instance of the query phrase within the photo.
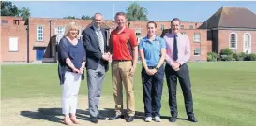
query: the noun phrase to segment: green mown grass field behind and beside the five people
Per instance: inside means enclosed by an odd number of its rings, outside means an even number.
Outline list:
[[[178,125],[255,126],[256,63],[188,63],[198,123],[179,119]],[[136,110],[143,112],[141,64],[134,77]],[[56,64],[2,65],[2,99],[61,97]],[[163,87],[162,116],[170,116],[166,81]],[[87,94],[86,81],[80,95]],[[111,71],[105,77],[102,97],[113,97]],[[177,91],[179,118],[187,118],[180,86]],[[114,105],[113,105],[114,107]],[[145,123],[146,125],[146,123]]]

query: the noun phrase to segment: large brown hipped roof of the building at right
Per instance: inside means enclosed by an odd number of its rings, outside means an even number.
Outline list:
[[[256,14],[247,7],[221,7],[199,29],[250,28],[256,29]]]

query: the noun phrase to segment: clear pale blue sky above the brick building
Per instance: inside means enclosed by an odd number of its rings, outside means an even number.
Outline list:
[[[122,2],[70,2],[70,1],[15,1],[17,7],[29,7],[31,17],[43,18],[63,18],[65,16],[75,16],[81,18],[82,15],[92,16],[96,12],[103,14],[107,20],[113,19],[114,12],[126,11],[132,1]],[[256,2],[154,2],[140,1],[141,7],[148,10],[148,19],[150,21],[170,21],[174,17],[182,21],[203,22],[213,15],[220,7],[248,7],[253,13],[256,13]]]

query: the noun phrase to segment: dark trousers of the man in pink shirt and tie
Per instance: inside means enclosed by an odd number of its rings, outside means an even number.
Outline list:
[[[171,109],[172,117],[177,117],[178,115],[176,100],[177,78],[179,79],[179,83],[183,92],[187,115],[188,117],[194,116],[193,98],[191,93],[191,83],[187,63],[181,65],[179,71],[174,71],[172,66],[166,64],[165,74],[169,91],[169,107]]]

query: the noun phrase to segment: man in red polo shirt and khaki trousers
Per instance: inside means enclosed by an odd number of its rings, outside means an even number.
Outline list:
[[[127,15],[116,13],[116,29],[111,33],[110,51],[112,53],[113,97],[115,101],[115,116],[110,119],[123,117],[122,83],[127,92],[127,122],[131,122],[135,115],[135,98],[133,92],[133,76],[138,61],[138,42],[135,32],[126,25]]]

